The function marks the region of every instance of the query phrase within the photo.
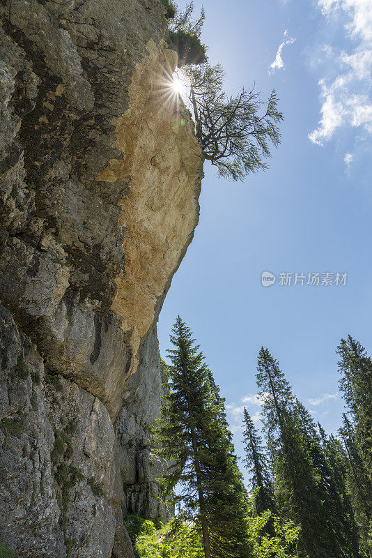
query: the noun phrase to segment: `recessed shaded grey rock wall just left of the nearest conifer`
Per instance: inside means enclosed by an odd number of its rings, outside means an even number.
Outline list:
[[[127,384],[123,407],[116,419],[116,453],[124,486],[123,510],[166,521],[171,510],[160,497],[157,478],[169,464],[151,453],[149,435],[160,417],[159,398],[166,382],[158,347],[153,327],[139,349],[139,367]]]

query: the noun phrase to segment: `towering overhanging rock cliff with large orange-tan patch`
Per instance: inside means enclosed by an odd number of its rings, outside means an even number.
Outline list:
[[[160,0],[0,3],[0,541],[132,556],[169,517],[156,322],[199,216]]]

